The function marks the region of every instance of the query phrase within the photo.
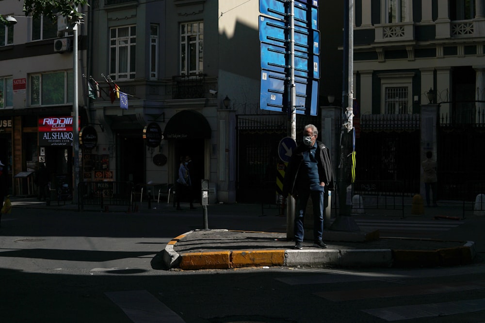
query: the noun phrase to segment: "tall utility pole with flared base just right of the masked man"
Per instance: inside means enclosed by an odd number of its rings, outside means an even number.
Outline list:
[[[344,76],[342,89],[342,128],[340,133],[339,215],[330,226],[335,231],[360,231],[352,218],[352,153],[354,151],[354,0],[344,8]],[[345,66],[346,65],[346,66]],[[345,84],[347,81],[347,84]],[[345,98],[347,97],[347,108]],[[345,109],[345,110],[343,110]]]

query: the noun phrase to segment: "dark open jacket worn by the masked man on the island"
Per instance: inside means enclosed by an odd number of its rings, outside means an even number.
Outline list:
[[[327,190],[334,189],[334,178],[332,169],[332,160],[330,158],[330,151],[328,148],[320,141],[317,141],[317,150],[315,152],[315,158],[318,164],[318,175],[320,177],[320,182],[325,183]],[[290,163],[286,169],[285,179],[283,182],[283,196],[286,197],[288,194],[298,195],[298,187],[296,187],[298,172],[300,171],[301,165],[303,163],[303,153],[310,150],[310,147],[300,144],[296,147],[296,150],[291,155]],[[308,185],[309,188],[309,185]]]

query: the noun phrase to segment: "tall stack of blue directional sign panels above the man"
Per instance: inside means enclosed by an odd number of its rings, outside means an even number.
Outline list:
[[[261,59],[260,108],[317,115],[320,79],[320,32],[318,0],[295,0],[293,6],[294,52],[290,53],[291,18],[287,0],[259,0]],[[268,16],[265,16],[268,15]],[[293,64],[291,59],[293,57]],[[293,74],[289,75],[290,68]],[[293,79],[290,79],[294,75]],[[290,98],[289,82],[295,84],[296,101]],[[291,100],[290,100],[291,99]]]

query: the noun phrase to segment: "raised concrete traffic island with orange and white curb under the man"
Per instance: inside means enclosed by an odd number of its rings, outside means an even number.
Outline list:
[[[349,232],[324,232],[328,248],[303,242],[293,250],[286,233],[200,230],[172,239],[152,260],[155,269],[232,269],[258,266],[437,267],[469,264],[476,255],[472,241],[379,238],[378,232],[347,240]],[[377,237],[377,238],[376,238]],[[327,239],[329,238],[329,239]],[[351,237],[352,238],[352,237]]]

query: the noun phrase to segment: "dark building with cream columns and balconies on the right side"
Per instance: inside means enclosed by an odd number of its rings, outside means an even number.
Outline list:
[[[441,197],[457,198],[463,182],[482,176],[458,156],[474,151],[464,130],[484,123],[485,1],[357,0],[354,25],[356,120],[361,130],[367,124],[361,142],[380,138],[372,153],[383,170],[375,174],[411,179],[408,192],[422,192],[420,161],[432,151]],[[364,148],[360,156],[371,158]]]

